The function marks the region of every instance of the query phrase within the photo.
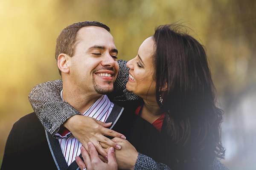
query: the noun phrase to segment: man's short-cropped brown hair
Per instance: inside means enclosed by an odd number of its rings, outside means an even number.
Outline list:
[[[56,40],[56,47],[55,47],[55,59],[58,59],[58,55],[61,53],[67,54],[70,57],[73,57],[75,54],[75,47],[77,43],[76,33],[79,31],[80,28],[86,26],[98,26],[105,28],[108,32],[110,32],[110,28],[103,23],[97,21],[84,21],[80,23],[74,23],[70,26],[67,26],[61,31],[57,40]],[[61,74],[61,71],[59,70]]]

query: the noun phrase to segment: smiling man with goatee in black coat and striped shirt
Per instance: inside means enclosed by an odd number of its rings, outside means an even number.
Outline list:
[[[119,71],[118,51],[109,31],[108,26],[95,21],[75,23],[61,31],[55,48],[63,81],[62,99],[85,116],[102,122],[116,122],[123,111],[103,95],[113,90]],[[1,169],[78,169],[74,160],[80,155],[80,147],[74,137],[54,139],[35,113],[30,113],[13,125]],[[113,152],[112,148],[108,156],[113,158]],[[117,167],[115,159],[110,163],[105,168]]]

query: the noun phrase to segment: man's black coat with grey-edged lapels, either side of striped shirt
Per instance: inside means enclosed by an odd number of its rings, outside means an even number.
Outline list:
[[[134,114],[135,108],[136,106],[125,109],[113,130],[123,133],[138,152],[159,160],[159,148],[154,146],[158,143],[160,134],[150,123]],[[58,169],[57,166],[61,170],[78,168],[75,161],[67,167],[58,139],[44,130],[34,112],[15,122],[6,142],[1,170],[53,170]]]

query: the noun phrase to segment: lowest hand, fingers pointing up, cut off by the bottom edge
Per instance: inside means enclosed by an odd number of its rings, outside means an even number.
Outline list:
[[[83,146],[81,147],[81,154],[84,161],[76,156],[76,163],[81,170],[117,170],[115,149],[113,147],[108,150],[108,163],[99,159],[98,152],[91,142],[88,142],[88,151]]]

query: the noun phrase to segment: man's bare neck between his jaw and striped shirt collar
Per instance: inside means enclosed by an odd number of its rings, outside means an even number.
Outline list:
[[[68,102],[73,108],[75,108],[80,113],[84,113],[99,99],[102,95],[95,94],[92,92],[79,91],[79,88],[66,88],[63,84],[62,97],[65,102]]]

